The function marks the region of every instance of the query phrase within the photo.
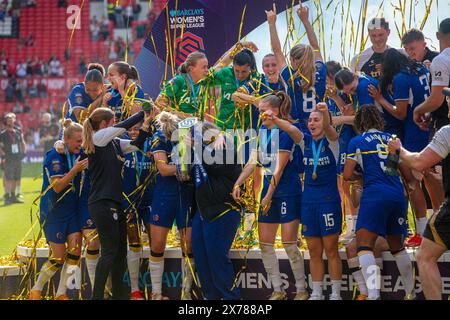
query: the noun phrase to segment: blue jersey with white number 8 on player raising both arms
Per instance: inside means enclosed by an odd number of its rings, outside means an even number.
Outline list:
[[[314,87],[308,91],[302,91],[304,79],[301,76],[295,76],[295,71],[286,65],[281,70],[281,77],[288,88],[288,94],[292,100],[291,117],[300,122],[300,128],[303,132],[308,132],[306,121],[309,114],[316,108],[317,103],[324,101],[327,70],[322,61],[316,61],[316,82]]]

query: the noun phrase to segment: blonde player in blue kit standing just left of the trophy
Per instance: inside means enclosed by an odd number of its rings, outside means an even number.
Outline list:
[[[162,275],[164,271],[164,251],[167,235],[176,221],[180,231],[183,274],[182,299],[191,299],[193,271],[195,270],[192,255],[192,206],[194,202],[194,185],[189,177],[182,174],[179,163],[177,145],[172,141],[172,134],[178,128],[177,115],[161,112],[157,117],[159,130],[153,135],[151,152],[158,173],[152,199],[150,217],[151,251],[150,276],[152,280],[152,300],[162,299]]]

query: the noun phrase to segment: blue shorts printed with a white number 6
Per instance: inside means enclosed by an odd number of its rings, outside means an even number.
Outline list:
[[[273,198],[267,213],[260,212],[258,222],[288,223],[300,220],[301,195]]]

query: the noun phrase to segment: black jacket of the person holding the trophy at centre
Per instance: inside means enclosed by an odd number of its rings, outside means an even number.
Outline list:
[[[195,191],[195,200],[198,210],[203,219],[212,220],[218,217],[221,213],[230,210],[233,206],[237,207],[231,192],[233,186],[239,175],[241,174],[242,167],[238,164],[236,151],[233,154],[232,164],[225,162],[228,151],[224,150],[212,150],[210,147],[206,147],[207,151],[211,155],[217,154],[217,158],[222,160],[221,163],[206,164],[203,160],[203,166],[208,174],[208,181],[202,183]],[[205,147],[203,147],[203,150]],[[216,158],[214,158],[216,159]]]

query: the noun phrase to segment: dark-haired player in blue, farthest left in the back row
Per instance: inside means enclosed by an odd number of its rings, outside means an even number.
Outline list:
[[[84,81],[76,84],[70,90],[67,99],[67,111],[64,115],[74,122],[82,122],[81,117],[86,117],[86,112],[93,111],[102,105],[104,90],[103,77],[105,68],[99,63],[90,63]]]

